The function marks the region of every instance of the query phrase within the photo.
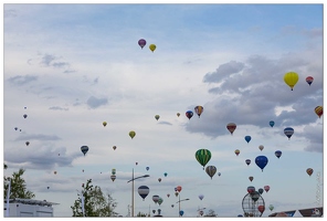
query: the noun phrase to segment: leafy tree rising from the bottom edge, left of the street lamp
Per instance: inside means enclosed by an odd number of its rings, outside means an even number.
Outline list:
[[[88,179],[82,192],[84,198],[85,217],[116,217],[114,209],[117,203],[110,194],[105,196],[101,187],[92,185],[92,179]],[[78,199],[72,206],[72,217],[83,217],[81,193],[77,193]]]

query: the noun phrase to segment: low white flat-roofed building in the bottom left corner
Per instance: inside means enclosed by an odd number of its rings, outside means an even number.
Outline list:
[[[7,200],[4,200],[4,217],[53,217],[53,204],[46,200],[33,199],[10,199],[9,212],[7,211]]]

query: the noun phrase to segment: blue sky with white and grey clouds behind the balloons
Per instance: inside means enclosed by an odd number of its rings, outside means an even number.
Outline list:
[[[72,217],[87,179],[128,217],[133,170],[150,176],[134,182],[135,215],[161,209],[178,217],[177,201],[189,199],[180,203],[183,217],[205,208],[204,214],[235,218],[249,186],[271,187],[262,193],[262,217],[323,206],[324,115],[314,112],[324,103],[323,9],[321,2],[3,4],[3,176],[24,168],[35,199],[60,203],[57,218]],[[287,72],[299,76],[293,91]],[[196,106],[203,106],[200,116]],[[233,135],[229,123],[236,124]],[[286,127],[294,128],[291,139]],[[89,148],[85,156],[82,146]],[[198,149],[211,151],[212,178]],[[268,158],[263,170],[257,156]],[[139,186],[150,189],[145,200]]]

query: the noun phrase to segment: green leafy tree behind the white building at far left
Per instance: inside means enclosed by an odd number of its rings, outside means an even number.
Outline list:
[[[24,169],[19,169],[18,172],[13,172],[12,177],[3,177],[3,196],[7,196],[8,187],[9,187],[9,180],[11,180],[11,188],[10,188],[10,198],[21,198],[21,199],[32,199],[35,197],[35,194],[27,190],[27,183],[25,180],[22,178],[24,175]]]

